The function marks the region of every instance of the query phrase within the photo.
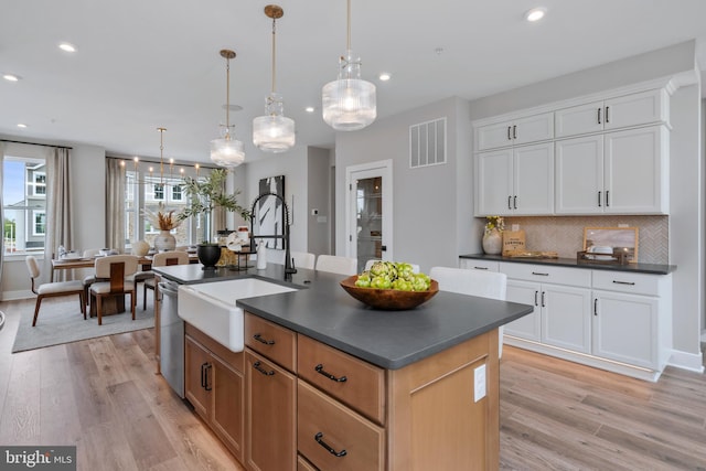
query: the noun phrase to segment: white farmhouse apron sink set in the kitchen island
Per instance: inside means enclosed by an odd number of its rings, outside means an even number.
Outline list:
[[[233,352],[242,352],[243,309],[235,301],[296,291],[257,278],[179,286],[179,317]]]

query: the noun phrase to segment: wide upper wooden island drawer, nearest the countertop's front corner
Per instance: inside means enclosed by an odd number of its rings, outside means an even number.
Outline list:
[[[385,421],[385,372],[340,350],[299,335],[299,377],[379,425]]]

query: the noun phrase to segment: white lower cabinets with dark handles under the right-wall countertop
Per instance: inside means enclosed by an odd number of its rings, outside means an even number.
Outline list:
[[[534,306],[505,325],[505,343],[649,381],[666,366],[671,275],[505,261],[499,270],[506,299]]]

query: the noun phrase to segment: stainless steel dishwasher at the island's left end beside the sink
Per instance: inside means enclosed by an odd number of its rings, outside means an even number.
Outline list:
[[[179,285],[162,280],[160,296],[159,362],[167,383],[184,398],[184,321],[179,317]]]

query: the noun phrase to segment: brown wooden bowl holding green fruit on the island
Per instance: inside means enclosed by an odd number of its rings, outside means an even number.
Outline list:
[[[427,291],[399,291],[396,289],[360,288],[355,286],[357,275],[347,277],[341,281],[341,287],[353,298],[370,306],[373,309],[384,311],[403,311],[414,309],[427,302],[439,292],[439,283],[431,280]]]

